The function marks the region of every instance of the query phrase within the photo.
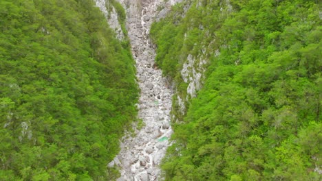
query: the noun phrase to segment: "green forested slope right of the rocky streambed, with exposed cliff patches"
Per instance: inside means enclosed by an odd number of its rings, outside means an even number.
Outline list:
[[[190,0],[153,23],[178,94],[187,56],[208,61],[185,114],[173,104],[166,180],[322,179],[321,23],[313,0]]]

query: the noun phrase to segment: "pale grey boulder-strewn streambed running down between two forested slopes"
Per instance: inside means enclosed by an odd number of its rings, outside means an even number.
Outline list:
[[[155,50],[149,41],[149,28],[162,1],[120,1],[127,9],[127,30],[136,60],[140,99],[138,117],[143,127],[135,136],[127,133],[120,153],[109,167],[120,167],[118,180],[160,180],[159,164],[171,136],[171,86],[155,66]],[[169,2],[171,5],[173,1]]]

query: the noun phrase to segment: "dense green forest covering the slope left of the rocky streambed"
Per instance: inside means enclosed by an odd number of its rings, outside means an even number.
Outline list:
[[[0,180],[118,175],[107,163],[138,86],[129,41],[115,37],[92,0],[0,1]]]

